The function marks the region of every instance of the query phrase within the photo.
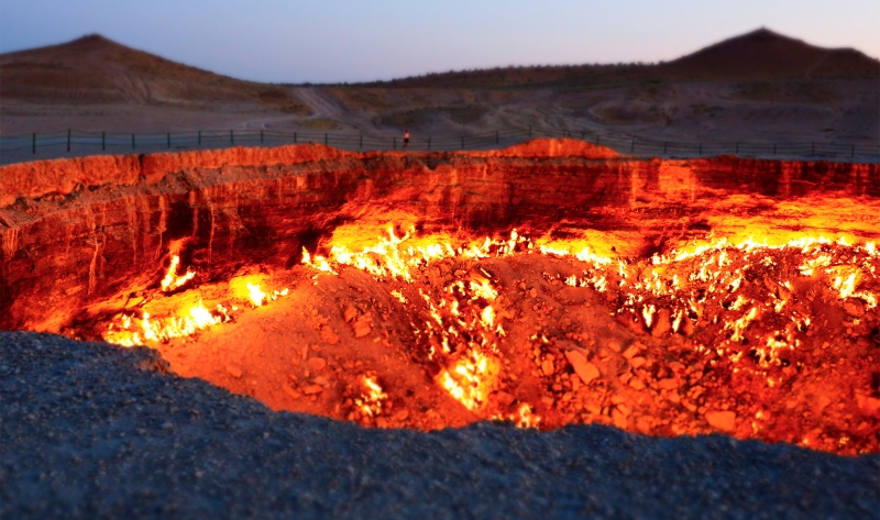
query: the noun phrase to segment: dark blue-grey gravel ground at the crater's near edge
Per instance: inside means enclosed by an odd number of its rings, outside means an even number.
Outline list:
[[[880,518],[880,455],[276,413],[148,348],[0,332],[0,518]]]

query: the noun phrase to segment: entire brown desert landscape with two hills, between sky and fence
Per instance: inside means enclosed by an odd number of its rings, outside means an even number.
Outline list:
[[[880,60],[761,29],[659,64],[266,85],[102,36],[0,55],[0,134],[280,130],[449,136],[566,129],[669,142],[880,139]]]

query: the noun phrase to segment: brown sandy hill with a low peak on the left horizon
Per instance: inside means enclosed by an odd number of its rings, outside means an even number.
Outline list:
[[[0,55],[0,97],[35,102],[198,106],[257,102],[297,111],[288,90],[221,76],[100,35]]]

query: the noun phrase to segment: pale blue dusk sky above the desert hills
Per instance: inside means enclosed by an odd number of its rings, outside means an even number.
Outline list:
[[[2,0],[0,52],[100,33],[258,81],[674,59],[766,26],[880,56],[878,0]]]

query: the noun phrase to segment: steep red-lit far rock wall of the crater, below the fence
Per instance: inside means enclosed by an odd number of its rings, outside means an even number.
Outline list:
[[[579,141],[493,152],[322,145],[99,156],[0,168],[0,329],[58,331],[155,285],[169,252],[204,280],[289,266],[341,223],[612,230],[626,254],[725,225],[880,235],[880,166],[635,159]],[[745,222],[745,223],[744,223]],[[763,228],[758,228],[759,231]],[[746,232],[748,230],[740,230]]]

